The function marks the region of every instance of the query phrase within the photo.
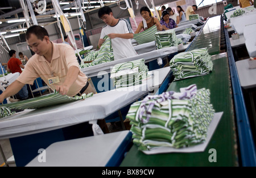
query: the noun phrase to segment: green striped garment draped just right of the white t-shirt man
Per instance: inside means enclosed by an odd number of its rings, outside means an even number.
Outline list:
[[[140,32],[139,34],[134,34],[133,39],[136,40],[139,44],[154,42],[155,33],[158,32],[156,26],[152,26],[147,30]]]

